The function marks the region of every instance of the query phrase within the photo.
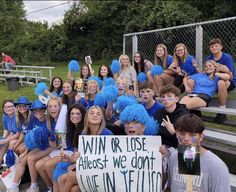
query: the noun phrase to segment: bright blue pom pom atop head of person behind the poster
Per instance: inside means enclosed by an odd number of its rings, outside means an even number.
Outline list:
[[[133,104],[127,106],[120,114],[120,120],[122,123],[136,121],[145,125],[149,115],[141,104]]]

